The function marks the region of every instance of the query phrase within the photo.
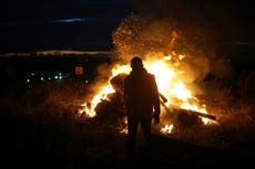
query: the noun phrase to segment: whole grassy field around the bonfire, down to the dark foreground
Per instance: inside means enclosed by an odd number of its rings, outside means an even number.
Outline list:
[[[139,165],[218,166],[253,163],[255,147],[254,72],[224,83],[211,80],[201,85],[214,88],[201,96],[217,125],[191,125],[169,135],[153,126],[154,154],[143,152],[139,135]],[[238,84],[238,85],[236,85]],[[235,87],[234,87],[235,86]],[[237,87],[238,86],[238,87]],[[17,92],[18,91],[18,92]],[[82,118],[81,104],[91,93],[82,81],[44,83],[0,99],[3,163],[27,168],[129,168],[123,115]]]

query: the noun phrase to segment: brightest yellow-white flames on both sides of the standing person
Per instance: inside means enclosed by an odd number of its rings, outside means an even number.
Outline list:
[[[178,55],[177,59],[182,60],[184,59],[184,55]],[[178,75],[184,74],[185,71],[180,71],[177,70],[176,64],[172,64],[171,55],[164,56],[161,60],[144,60],[143,63],[144,67],[155,75],[160,93],[167,98],[167,103],[165,103],[167,107],[171,108],[171,106],[174,106],[206,114],[205,105],[200,105],[198,99],[192,95],[192,91],[190,91],[185,83],[180,80]],[[129,74],[130,71],[130,65],[118,64],[112,68],[109,80],[120,73]],[[102,87],[102,89],[100,89],[100,92],[93,97],[90,106],[88,106],[88,104],[83,105],[84,108],[80,109],[80,113],[85,113],[89,117],[94,117],[96,115],[94,110],[95,106],[101,102],[101,99],[106,99],[106,96],[110,93],[114,93],[114,89],[109,83],[104,85],[104,87]],[[210,123],[210,119],[202,117],[202,122],[206,125]],[[166,125],[161,129],[161,133],[171,133],[172,128],[173,125]],[[125,131],[123,130],[123,133]]]

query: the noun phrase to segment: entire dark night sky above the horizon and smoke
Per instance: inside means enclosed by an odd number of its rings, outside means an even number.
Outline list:
[[[1,52],[109,50],[131,11],[206,22],[226,41],[255,40],[252,0],[8,0],[0,6]]]

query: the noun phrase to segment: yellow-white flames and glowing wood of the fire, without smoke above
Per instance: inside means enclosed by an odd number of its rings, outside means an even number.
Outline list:
[[[180,59],[184,59],[183,55],[180,56]],[[161,129],[162,133],[171,133],[172,128],[174,127],[174,125],[169,125],[169,120],[171,119],[167,119],[167,117],[171,116],[165,116],[165,114],[174,115],[175,113],[180,112],[184,114],[192,114],[190,116],[198,116],[197,118],[200,118],[205,125],[210,124],[212,120],[215,120],[215,116],[207,115],[206,105],[200,104],[200,99],[192,94],[192,91],[180,78],[178,75],[185,74],[185,70],[178,70],[178,65],[172,64],[170,55],[164,56],[161,60],[147,59],[144,61],[144,66],[149,72],[155,74],[161,98],[163,98],[161,103],[163,107],[162,122],[166,123],[167,125]],[[100,92],[95,94],[91,101],[90,107],[88,106],[88,103],[83,105],[84,107],[83,109],[80,109],[80,114],[86,114],[89,117],[93,117],[96,116],[96,105],[103,101],[108,101],[112,104],[114,104],[116,101],[120,102],[122,99],[123,80],[125,74],[129,72],[130,67],[128,64],[116,64],[112,68],[109,83],[102,85],[101,89],[99,89]],[[112,94],[115,94],[115,96],[111,97]],[[116,96],[120,98],[116,99]],[[123,106],[121,105],[121,102],[119,104],[119,107]]]

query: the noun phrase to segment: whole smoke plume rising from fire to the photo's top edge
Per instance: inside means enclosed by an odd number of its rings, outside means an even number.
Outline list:
[[[222,76],[217,70],[223,68],[217,68],[216,62],[221,57],[216,53],[218,42],[241,32],[235,3],[230,0],[133,0],[131,3],[134,12],[112,34],[115,59],[129,63],[134,55],[145,59],[152,53],[162,56],[175,51],[188,59],[182,64],[187,82],[203,80],[210,72]]]

